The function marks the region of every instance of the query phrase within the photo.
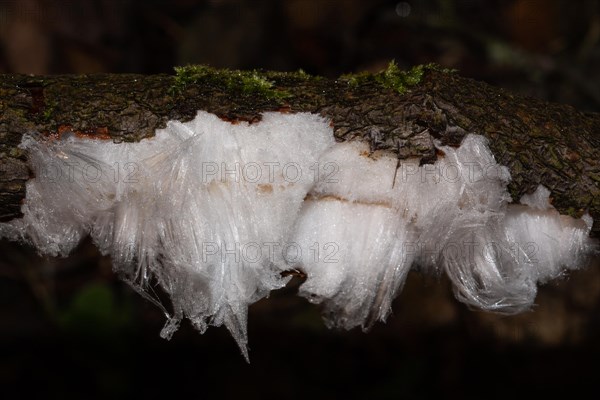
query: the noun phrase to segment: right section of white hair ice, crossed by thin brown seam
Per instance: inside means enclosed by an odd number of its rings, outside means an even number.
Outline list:
[[[321,158],[336,162],[339,179],[315,185],[311,194],[322,201],[305,202],[296,240],[330,237],[346,249],[339,268],[303,260],[308,280],[300,293],[324,303],[330,325],[385,320],[413,264],[444,271],[470,306],[520,312],[533,304],[538,282],[578,268],[595,248],[590,226],[561,216],[543,186],[522,199],[530,207],[509,204],[510,174],[484,137],[438,148],[444,156],[423,166],[369,156],[358,142],[337,144]],[[339,203],[337,215],[331,202]]]

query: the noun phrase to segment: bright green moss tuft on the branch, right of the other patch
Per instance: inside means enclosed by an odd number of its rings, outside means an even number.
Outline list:
[[[395,61],[391,61],[387,68],[375,74],[369,72],[359,72],[357,74],[342,75],[340,80],[348,82],[350,86],[359,86],[362,84],[376,82],[381,86],[396,91],[399,94],[406,93],[412,87],[421,83],[425,71],[439,71],[444,73],[453,73],[454,70],[442,68],[437,64],[417,65],[408,71],[402,71]]]

